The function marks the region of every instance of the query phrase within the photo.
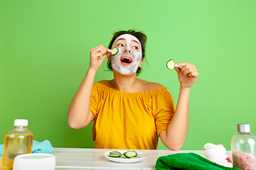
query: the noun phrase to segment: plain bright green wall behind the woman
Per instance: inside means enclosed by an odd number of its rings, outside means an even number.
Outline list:
[[[236,124],[256,134],[256,1],[0,1],[0,144],[16,118],[28,119],[38,141],[53,147],[93,148],[92,123],[73,130],[70,101],[89,65],[92,47],[107,47],[117,30],[146,33],[140,79],[179,84],[166,61],[191,62],[190,126],[181,149],[211,142],[230,149]],[[95,81],[112,79],[106,62]],[[159,142],[158,149],[166,149]]]

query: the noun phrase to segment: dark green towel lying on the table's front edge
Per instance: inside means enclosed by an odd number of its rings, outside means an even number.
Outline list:
[[[167,156],[159,157],[156,161],[156,170],[166,169],[195,169],[195,170],[223,170],[223,169],[238,169],[221,166],[214,162],[210,162],[208,159],[201,157],[195,153],[179,153],[169,154]]]

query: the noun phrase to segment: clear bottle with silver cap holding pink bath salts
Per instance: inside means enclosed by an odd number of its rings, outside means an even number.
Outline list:
[[[256,137],[250,133],[250,124],[238,124],[238,133],[231,140],[233,167],[256,169]]]

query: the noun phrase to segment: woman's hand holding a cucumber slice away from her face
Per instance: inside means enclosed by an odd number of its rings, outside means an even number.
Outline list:
[[[198,78],[196,66],[188,62],[177,63],[174,69],[178,73],[178,81],[182,88],[191,88]]]

